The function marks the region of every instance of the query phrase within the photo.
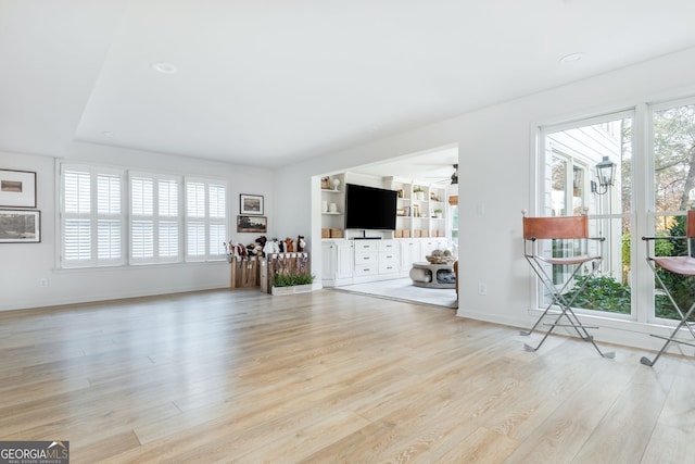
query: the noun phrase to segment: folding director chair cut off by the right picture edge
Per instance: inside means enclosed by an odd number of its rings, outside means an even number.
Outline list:
[[[659,268],[661,268],[661,269],[670,271],[673,274],[678,274],[681,276],[695,276],[695,258],[692,258],[693,253],[691,250],[692,238],[695,238],[695,210],[690,210],[687,212],[685,236],[642,237],[642,239],[645,240],[647,243],[647,254],[646,254],[647,263],[649,264],[649,267],[652,267],[652,271],[654,271],[654,275],[656,276],[656,280],[659,283],[659,287],[661,287],[661,289],[664,290],[665,294],[667,296],[667,298],[669,299],[673,308],[675,308],[675,311],[678,311],[679,316],[681,316],[681,322],[675,326],[675,328],[673,329],[670,336],[664,337],[660,335],[652,334],[652,337],[662,338],[664,340],[666,340],[666,342],[661,347],[661,350],[659,350],[659,352],[657,353],[656,358],[654,358],[654,360],[649,360],[646,356],[643,356],[640,360],[640,362],[644,365],[653,366],[654,363],[656,363],[657,360],[661,356],[661,354],[664,354],[666,349],[669,348],[669,344],[671,344],[672,341],[675,343],[682,343],[682,344],[695,347],[695,344],[693,344],[690,341],[680,340],[677,338],[681,329],[685,327],[695,339],[695,331],[693,331],[693,324],[695,323],[688,322],[691,314],[693,314],[693,310],[695,310],[695,301],[691,304],[687,311],[684,311],[683,308],[680,308],[679,304],[673,299],[673,297],[671,296],[671,292],[669,291],[667,286],[664,284],[664,280],[659,276],[659,273],[657,272]],[[649,247],[649,243],[655,240],[685,240],[687,243],[687,255],[686,256],[655,256],[652,254],[652,250]]]

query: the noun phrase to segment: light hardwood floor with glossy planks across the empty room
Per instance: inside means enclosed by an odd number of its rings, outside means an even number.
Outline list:
[[[331,290],[0,314],[0,440],[73,463],[685,463],[695,361]]]

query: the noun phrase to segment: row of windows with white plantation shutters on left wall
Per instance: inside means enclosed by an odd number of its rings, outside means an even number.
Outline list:
[[[60,177],[62,267],[225,259],[224,181],[77,164]]]

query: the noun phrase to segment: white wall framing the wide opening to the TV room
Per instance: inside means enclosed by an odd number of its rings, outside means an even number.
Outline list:
[[[287,223],[290,229],[313,223],[313,272],[320,275],[318,215],[308,208],[292,208],[298,202],[312,204],[312,176],[458,143],[462,276],[458,315],[528,327],[535,316],[529,314],[532,279],[522,258],[521,210],[533,211],[533,128],[540,123],[558,123],[640,102],[695,95],[693,76],[695,49],[295,164],[283,170],[278,178],[279,191],[296,192],[292,197],[277,196],[278,221]],[[486,284],[486,296],[478,294],[479,283]],[[629,323],[602,325],[596,333],[599,340],[649,343],[645,341],[649,337],[640,334],[649,331],[648,327]]]

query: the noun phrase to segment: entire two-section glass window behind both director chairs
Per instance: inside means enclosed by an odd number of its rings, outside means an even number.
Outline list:
[[[583,165],[584,180],[573,176],[572,185],[572,189],[583,186],[583,193],[573,192],[572,202],[583,198],[592,235],[606,238],[602,273],[589,283],[594,293],[574,303],[579,311],[599,311],[604,317],[647,324],[680,319],[670,301],[650,285],[655,277],[644,260],[645,244],[640,238],[682,236],[685,211],[695,208],[695,99],[641,103],[634,111],[542,127],[540,134],[538,172],[544,180],[538,197],[539,214],[570,211],[569,166]],[[633,140],[647,142],[633,145]],[[598,185],[594,166],[603,156],[615,163],[612,186]],[[681,244],[662,240],[650,246],[656,254],[678,255],[686,252]],[[555,252],[563,253],[563,246]],[[666,272],[660,277],[675,289],[677,302],[687,306],[695,279]],[[539,294],[540,308],[543,301]]]

